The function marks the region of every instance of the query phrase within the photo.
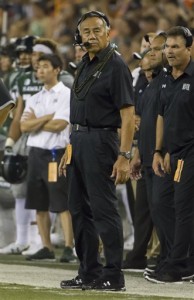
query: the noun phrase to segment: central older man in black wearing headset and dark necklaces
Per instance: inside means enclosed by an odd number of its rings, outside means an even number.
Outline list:
[[[133,89],[130,71],[110,44],[109,32],[109,21],[101,12],[88,12],[78,22],[76,40],[87,47],[88,53],[78,67],[71,94],[72,158],[67,175],[80,267],[76,278],[61,282],[62,288],[125,289],[121,271],[123,230],[115,185],[129,179]],[[66,154],[60,174],[64,168]],[[104,267],[99,260],[99,236],[104,246]]]

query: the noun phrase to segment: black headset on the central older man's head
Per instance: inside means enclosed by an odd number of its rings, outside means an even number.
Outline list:
[[[96,11],[96,10],[88,11],[78,20],[77,29],[76,29],[75,36],[74,36],[75,45],[84,46],[84,44],[82,43],[82,38],[81,38],[78,27],[85,19],[90,18],[90,17],[98,17],[98,18],[104,19],[107,27],[110,28],[110,22],[105,14],[103,14],[100,11]]]

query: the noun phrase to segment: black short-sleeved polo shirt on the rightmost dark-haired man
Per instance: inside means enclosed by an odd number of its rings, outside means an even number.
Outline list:
[[[161,86],[159,114],[164,118],[164,142],[171,155],[184,158],[194,147],[194,62]]]

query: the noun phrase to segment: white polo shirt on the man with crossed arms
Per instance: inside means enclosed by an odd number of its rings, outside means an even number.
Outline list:
[[[25,112],[30,108],[34,110],[37,118],[54,113],[53,120],[61,119],[69,122],[70,115],[70,89],[62,82],[58,82],[50,90],[42,90],[26,101]],[[41,149],[51,150],[65,148],[69,143],[68,125],[58,133],[49,131],[30,132],[27,145]]]

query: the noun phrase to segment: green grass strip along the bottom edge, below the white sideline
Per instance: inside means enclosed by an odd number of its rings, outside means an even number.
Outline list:
[[[169,297],[157,296],[129,296],[122,293],[108,293],[108,292],[88,292],[80,290],[60,290],[60,289],[46,289],[35,288],[24,285],[2,284],[0,283],[0,299],[1,300],[174,300]],[[183,300],[176,298],[176,300]],[[189,299],[188,299],[189,300]]]

